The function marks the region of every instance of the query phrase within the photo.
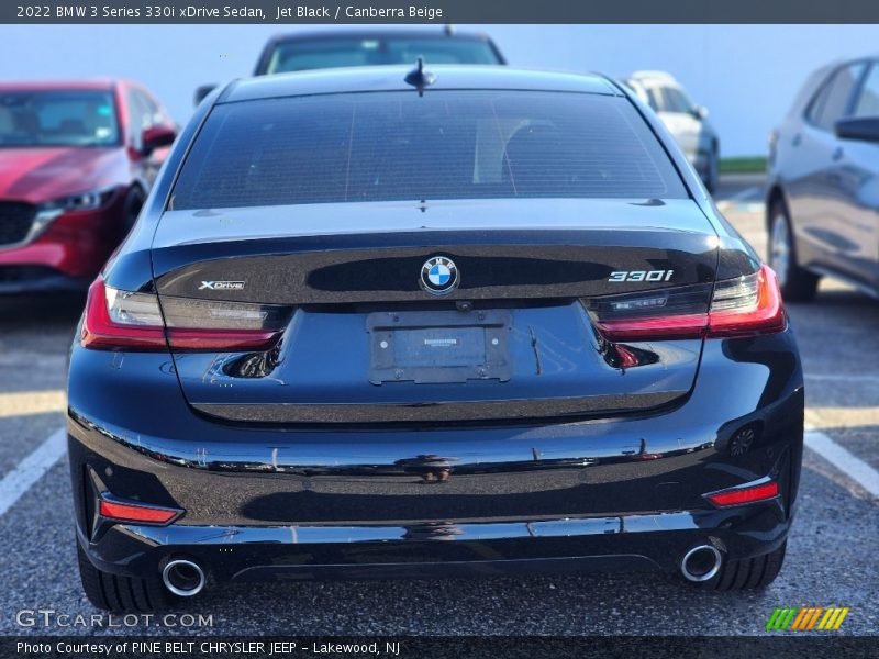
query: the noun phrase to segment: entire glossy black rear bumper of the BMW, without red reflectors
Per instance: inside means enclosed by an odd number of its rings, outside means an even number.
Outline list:
[[[705,343],[686,402],[541,426],[281,429],[186,405],[170,357],[74,349],[69,456],[79,541],[101,569],[212,579],[676,569],[711,543],[733,558],[787,537],[802,455],[790,331]],[[739,442],[743,429],[753,440]],[[771,476],[781,496],[703,494]],[[170,526],[107,524],[99,491],[180,507]]]

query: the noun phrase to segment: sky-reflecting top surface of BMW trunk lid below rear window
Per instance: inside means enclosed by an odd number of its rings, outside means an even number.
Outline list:
[[[719,237],[691,199],[369,201],[165,211],[153,249],[202,243],[430,232],[612,231]],[[650,203],[647,203],[650,202]],[[547,215],[550,217],[547,219]],[[609,220],[612,217],[612,221]],[[538,219],[535,222],[535,219]]]

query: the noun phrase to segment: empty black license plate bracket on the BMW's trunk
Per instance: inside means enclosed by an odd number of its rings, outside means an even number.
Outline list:
[[[508,381],[509,310],[376,312],[366,319],[369,381],[436,384]]]

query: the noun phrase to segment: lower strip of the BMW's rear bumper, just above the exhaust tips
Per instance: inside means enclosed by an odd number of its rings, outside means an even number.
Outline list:
[[[409,526],[115,525],[80,543],[101,569],[158,574],[194,560],[214,581],[466,577],[523,572],[665,570],[692,547],[756,556],[778,547],[781,502],[748,510]]]

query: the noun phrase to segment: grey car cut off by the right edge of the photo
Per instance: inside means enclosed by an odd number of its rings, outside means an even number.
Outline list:
[[[879,297],[879,59],[815,71],[769,138],[769,260],[788,300],[823,276]]]

